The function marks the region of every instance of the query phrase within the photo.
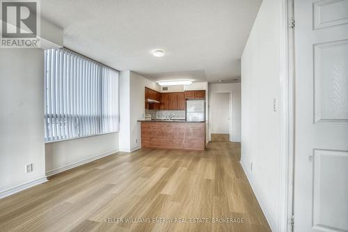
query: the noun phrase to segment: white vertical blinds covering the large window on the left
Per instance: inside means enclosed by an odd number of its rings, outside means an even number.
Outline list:
[[[45,141],[118,132],[119,72],[68,49],[45,50]]]

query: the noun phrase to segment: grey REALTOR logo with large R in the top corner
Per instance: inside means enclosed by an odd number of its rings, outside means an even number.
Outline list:
[[[1,0],[1,48],[40,47],[38,1]]]

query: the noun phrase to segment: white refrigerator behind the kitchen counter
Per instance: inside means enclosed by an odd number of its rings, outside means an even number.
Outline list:
[[[205,100],[186,101],[186,121],[205,121]]]

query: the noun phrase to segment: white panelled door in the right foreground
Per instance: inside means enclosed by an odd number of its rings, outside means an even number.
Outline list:
[[[348,231],[348,0],[294,0],[294,231]]]

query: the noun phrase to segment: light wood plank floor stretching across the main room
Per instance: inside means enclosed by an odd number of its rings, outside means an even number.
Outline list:
[[[0,230],[271,231],[239,153],[237,143],[213,141],[206,151],[141,149],[104,157],[1,199]]]

